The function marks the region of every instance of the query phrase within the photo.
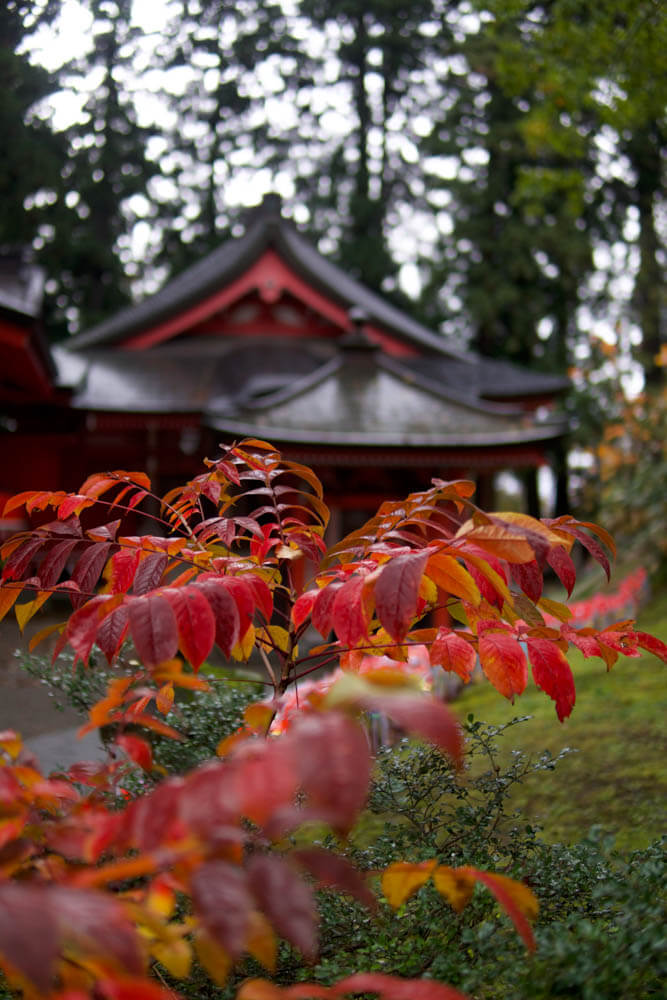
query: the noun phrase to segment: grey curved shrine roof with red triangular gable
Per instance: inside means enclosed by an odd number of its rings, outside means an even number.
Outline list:
[[[275,199],[243,236],[53,354],[75,409],[197,414],[234,436],[452,448],[567,429],[534,412],[566,379],[456,349],[326,260]]]

